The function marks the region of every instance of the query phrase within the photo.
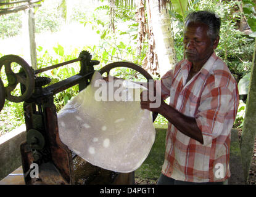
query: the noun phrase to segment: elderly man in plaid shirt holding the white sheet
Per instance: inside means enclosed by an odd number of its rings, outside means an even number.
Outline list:
[[[220,18],[207,11],[186,17],[186,59],[161,79],[162,102],[152,108],[168,120],[158,184],[223,184],[230,176],[230,132],[239,103],[237,84],[216,56]],[[169,105],[163,100],[170,96]]]

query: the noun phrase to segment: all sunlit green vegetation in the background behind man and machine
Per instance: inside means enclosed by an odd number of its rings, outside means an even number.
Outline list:
[[[107,1],[75,1],[68,20],[67,15],[63,14],[64,12],[60,9],[61,2],[59,0],[46,0],[36,10],[36,38],[43,36],[42,41],[38,40],[37,42],[38,68],[77,58],[81,50],[88,50],[94,59],[101,61],[101,64],[96,66],[96,70],[107,63],[122,60],[141,65],[142,60],[146,57],[148,41],[146,38],[142,42],[141,54],[138,55],[136,52],[138,22],[135,19],[136,9],[134,7],[117,5],[114,19],[115,31],[113,31],[109,17],[111,9]],[[237,82],[239,82],[250,72],[254,49],[254,38],[241,29],[240,22],[243,17],[250,18],[255,16],[254,2],[205,0],[189,2],[186,14],[191,10],[213,10],[221,17],[221,41],[216,52],[219,57],[225,60]],[[244,7],[242,12],[239,9],[239,5]],[[175,40],[176,61],[178,62],[183,58],[183,16],[171,7],[169,13]],[[78,26],[79,29],[75,30],[74,28]],[[21,28],[21,12],[0,16],[1,41],[15,38],[12,36],[19,36]],[[72,46],[67,46],[67,42],[75,37],[75,31],[81,31],[84,34],[78,36],[77,42],[72,41]],[[65,39],[57,40],[57,43],[50,39],[51,36],[52,38],[54,35],[59,36],[62,32],[65,33]],[[90,38],[87,38],[87,42],[85,42],[86,37],[91,37],[91,42],[89,42]],[[57,38],[57,36],[54,37],[54,39]],[[0,47],[0,57],[2,55],[7,55],[6,46]],[[17,55],[22,56],[22,53]],[[79,69],[79,63],[74,63],[72,66],[62,66],[48,71],[41,76],[49,76],[52,82],[57,82],[78,73]],[[2,73],[3,70],[1,71]],[[135,81],[144,80],[141,74],[126,68],[118,68],[113,70],[111,74]],[[6,78],[2,75],[1,77],[7,84]],[[157,79],[157,76],[154,76],[154,78]],[[77,93],[78,87],[75,86],[57,94],[55,97],[57,110],[60,110]],[[246,110],[245,102],[245,99],[241,100],[235,127],[242,127]],[[1,134],[20,126],[20,124],[24,123],[22,103],[7,101],[0,113],[0,118]],[[159,116],[156,122],[160,124],[167,123],[162,116]]]

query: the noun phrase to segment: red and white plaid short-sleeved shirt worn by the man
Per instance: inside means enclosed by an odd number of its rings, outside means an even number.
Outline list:
[[[159,82],[162,98],[170,96],[172,107],[196,118],[204,144],[168,123],[162,173],[188,182],[222,182],[230,177],[231,128],[239,104],[237,84],[215,52],[186,83],[191,66],[191,62],[182,60]]]

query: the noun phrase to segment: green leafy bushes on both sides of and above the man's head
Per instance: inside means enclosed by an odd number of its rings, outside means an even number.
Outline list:
[[[254,39],[239,31],[237,22],[242,14],[237,11],[237,1],[194,1],[188,12],[193,10],[210,10],[221,18],[220,44],[216,50],[234,74],[237,81],[250,71]],[[177,59],[183,58],[183,21],[173,12],[175,22],[175,51]],[[177,20],[178,19],[178,20]]]

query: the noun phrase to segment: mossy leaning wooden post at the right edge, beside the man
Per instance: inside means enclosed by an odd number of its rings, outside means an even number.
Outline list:
[[[249,177],[250,164],[252,161],[252,153],[254,150],[256,135],[256,68],[255,68],[255,51],[256,38],[254,47],[254,56],[252,60],[252,68],[250,75],[249,93],[246,102],[246,116],[244,118],[244,126],[241,136],[241,155],[242,165],[244,166],[244,177],[246,182]]]

